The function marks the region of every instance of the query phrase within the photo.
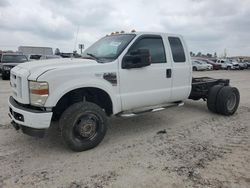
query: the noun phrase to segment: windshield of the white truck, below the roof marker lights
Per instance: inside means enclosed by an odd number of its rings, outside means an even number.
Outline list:
[[[122,34],[104,37],[86,49],[83,53],[85,58],[93,58],[101,62],[115,60],[136,35]]]

